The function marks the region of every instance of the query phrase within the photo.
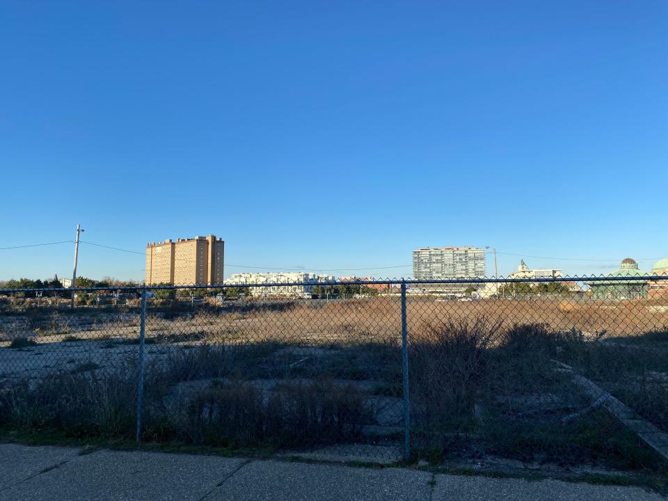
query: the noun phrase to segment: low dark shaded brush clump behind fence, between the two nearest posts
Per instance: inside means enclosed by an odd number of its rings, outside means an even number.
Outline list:
[[[281,383],[269,394],[248,381],[221,381],[182,397],[162,433],[223,447],[344,443],[368,422],[365,401],[360,390],[326,380]]]

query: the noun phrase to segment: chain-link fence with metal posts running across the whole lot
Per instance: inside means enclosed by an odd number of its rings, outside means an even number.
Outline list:
[[[0,420],[399,461],[663,468],[668,277],[0,291]]]

